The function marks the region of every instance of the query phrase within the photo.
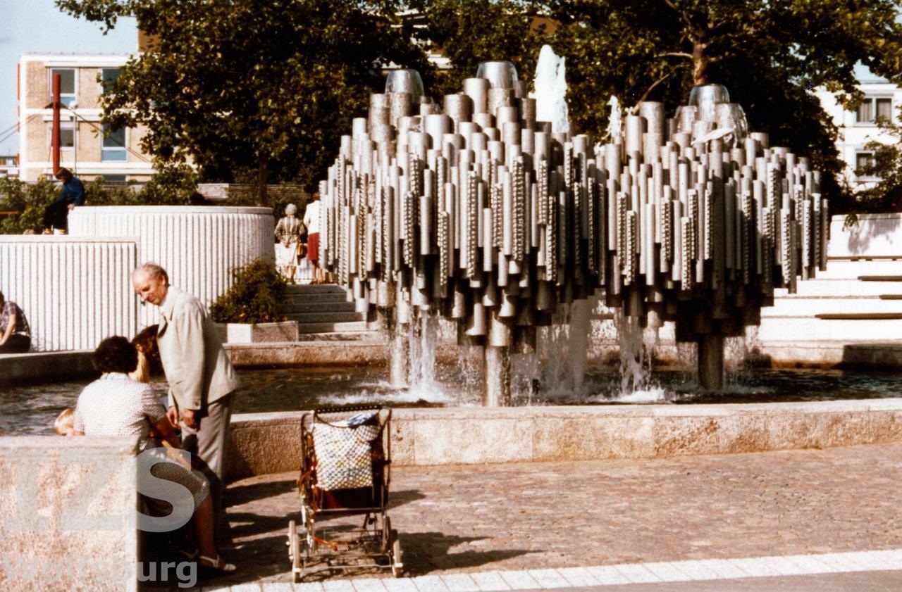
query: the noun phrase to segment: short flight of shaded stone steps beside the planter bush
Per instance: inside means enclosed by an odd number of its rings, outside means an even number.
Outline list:
[[[280,312],[298,322],[299,341],[349,341],[378,335],[370,330],[366,314],[354,311],[354,302],[342,287],[289,286],[287,296]]]

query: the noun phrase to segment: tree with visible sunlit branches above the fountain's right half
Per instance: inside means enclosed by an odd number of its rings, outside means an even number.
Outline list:
[[[560,23],[552,36],[566,56],[576,129],[603,131],[601,105],[663,100],[672,113],[694,85],[719,83],[772,145],[812,156],[839,187],[836,129],[810,91],[842,105],[861,100],[854,68],[902,82],[899,0],[550,0],[538,7]]]

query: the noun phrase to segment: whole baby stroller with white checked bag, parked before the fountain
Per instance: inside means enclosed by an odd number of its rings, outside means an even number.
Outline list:
[[[288,526],[297,583],[331,569],[390,569],[400,577],[398,532],[386,511],[391,480],[391,409],[325,408],[301,417],[300,520]],[[363,515],[364,524],[321,522]],[[359,523],[358,523],[359,524]]]

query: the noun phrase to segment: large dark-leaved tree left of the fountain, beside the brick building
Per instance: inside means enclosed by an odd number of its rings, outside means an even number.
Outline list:
[[[104,96],[104,122],[147,126],[143,150],[193,162],[200,180],[309,185],[350,119],[380,89],[381,68],[418,68],[425,54],[391,0],[56,0],[102,28],[134,16],[151,50]]]

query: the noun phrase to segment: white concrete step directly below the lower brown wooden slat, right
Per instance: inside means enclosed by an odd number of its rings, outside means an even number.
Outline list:
[[[902,319],[837,319],[764,317],[758,338],[762,342],[849,341],[893,339],[902,335]]]

